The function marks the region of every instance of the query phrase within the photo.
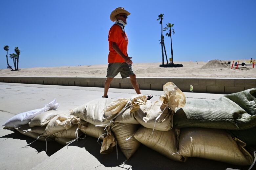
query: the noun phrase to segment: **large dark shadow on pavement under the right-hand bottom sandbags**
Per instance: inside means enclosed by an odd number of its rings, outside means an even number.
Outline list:
[[[225,170],[226,168],[235,168],[241,170],[247,170],[249,166],[237,166],[219,161],[211,161],[200,158],[188,158],[186,162],[176,162],[168,159],[160,153],[146,147],[141,144],[139,149],[132,156],[130,161],[127,161],[126,166],[123,167],[122,163],[126,160],[118,147],[118,160],[116,149],[109,154],[100,154],[100,145],[97,143],[97,139],[87,136],[85,139],[78,141],[77,143],[70,144],[85,148],[90,154],[92,154],[100,163],[106,167],[119,166],[127,169],[127,165],[132,166],[133,170],[155,170],[155,169],[172,169],[172,170]],[[99,168],[97,165],[95,169]]]

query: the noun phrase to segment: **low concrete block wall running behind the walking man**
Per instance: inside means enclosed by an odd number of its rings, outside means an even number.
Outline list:
[[[104,87],[106,77],[7,77],[0,82],[48,84],[64,86]],[[256,87],[256,78],[205,78],[205,77],[137,77],[142,90],[161,90],[169,81],[175,83],[183,92],[197,93],[236,93]],[[129,78],[114,78],[111,88],[133,89]]]

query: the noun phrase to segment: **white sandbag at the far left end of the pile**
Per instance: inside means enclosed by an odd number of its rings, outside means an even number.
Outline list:
[[[22,125],[26,125],[30,122],[32,118],[34,118],[36,115],[48,111],[48,110],[56,110],[59,107],[60,103],[56,103],[56,99],[45,105],[45,107],[41,109],[35,109],[26,111],[23,113],[19,113],[15,116],[13,116],[11,119],[9,119],[5,124],[2,126],[7,127],[20,127]]]

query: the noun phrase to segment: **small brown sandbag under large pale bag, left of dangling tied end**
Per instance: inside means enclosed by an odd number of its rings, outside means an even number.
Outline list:
[[[78,124],[79,129],[86,135],[99,138],[100,140],[103,140],[103,136],[100,136],[104,133],[106,133],[106,130],[104,130],[104,127],[95,127],[95,125],[90,124],[84,120],[81,120]]]

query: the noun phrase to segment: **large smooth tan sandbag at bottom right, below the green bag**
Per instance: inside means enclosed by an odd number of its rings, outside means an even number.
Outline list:
[[[235,165],[250,165],[253,157],[245,150],[245,145],[222,129],[182,128],[179,154]]]

